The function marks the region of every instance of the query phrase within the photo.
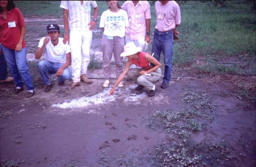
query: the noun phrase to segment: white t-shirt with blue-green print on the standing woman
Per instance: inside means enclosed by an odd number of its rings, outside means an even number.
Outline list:
[[[125,27],[129,26],[127,12],[120,9],[114,13],[109,9],[104,11],[100,17],[100,27],[104,27],[103,34],[111,37],[124,37]]]

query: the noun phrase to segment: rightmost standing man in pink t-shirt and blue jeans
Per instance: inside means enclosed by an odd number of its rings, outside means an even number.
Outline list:
[[[171,79],[172,52],[173,52],[173,29],[180,24],[180,7],[175,1],[157,1],[156,30],[152,43],[152,53],[158,55],[160,60],[161,51],[164,54],[165,73],[161,88],[165,89]]]

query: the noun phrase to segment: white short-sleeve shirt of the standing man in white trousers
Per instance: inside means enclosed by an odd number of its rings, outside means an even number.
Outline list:
[[[68,10],[69,30],[89,31],[91,22],[91,6],[97,7],[96,1],[61,1],[60,7]]]

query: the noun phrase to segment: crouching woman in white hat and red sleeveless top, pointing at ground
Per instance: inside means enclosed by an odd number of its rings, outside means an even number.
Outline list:
[[[146,52],[140,52],[141,48],[136,47],[134,43],[129,42],[124,46],[124,52],[121,53],[121,57],[127,56],[128,61],[124,68],[124,71],[117,78],[114,87],[110,90],[109,95],[114,94],[115,87],[124,79],[125,75],[129,76],[134,82],[138,83],[136,90],[143,89],[144,87],[149,90],[148,96],[155,95],[156,86],[153,82],[157,81],[161,77],[161,63],[158,62],[152,55]],[[135,64],[142,68],[131,68],[130,66]]]

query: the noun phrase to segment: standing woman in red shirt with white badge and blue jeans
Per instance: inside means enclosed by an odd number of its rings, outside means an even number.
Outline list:
[[[23,79],[28,90],[26,97],[32,97],[35,91],[26,58],[26,24],[13,1],[0,1],[0,31],[1,48],[16,85],[14,93],[24,90]]]

